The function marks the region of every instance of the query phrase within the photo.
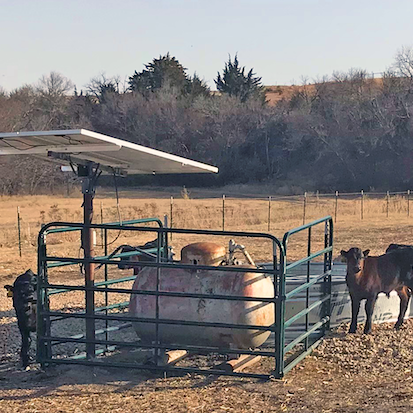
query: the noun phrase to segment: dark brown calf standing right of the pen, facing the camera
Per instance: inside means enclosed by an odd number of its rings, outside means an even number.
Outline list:
[[[378,257],[368,257],[369,252],[370,250],[361,251],[356,247],[341,251],[347,261],[346,282],[351,297],[350,333],[357,330],[361,300],[366,300],[364,333],[368,334],[371,332],[371,319],[379,293],[389,296],[390,292],[395,290],[400,297],[396,329],[403,324],[411,296],[413,249],[396,249]]]

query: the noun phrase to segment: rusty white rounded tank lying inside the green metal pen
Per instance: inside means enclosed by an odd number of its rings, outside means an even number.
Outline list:
[[[194,263],[196,260],[199,265],[218,265],[225,257],[225,248],[211,242],[190,244],[182,249],[181,257],[183,263]],[[156,290],[156,277],[156,268],[143,268],[133,284],[133,289]],[[269,276],[224,270],[162,268],[160,269],[159,290],[274,297],[274,286]],[[129,311],[136,317],[155,318],[156,297],[132,294]],[[269,327],[274,324],[274,305],[261,301],[159,297],[159,318]],[[133,325],[142,342],[150,343],[155,340],[154,324],[135,322]],[[159,324],[159,338],[162,344],[248,349],[259,347],[269,335],[270,332],[261,330]]]

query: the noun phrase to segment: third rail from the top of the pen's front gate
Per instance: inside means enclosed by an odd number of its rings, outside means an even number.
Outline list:
[[[60,288],[60,291],[95,291],[99,293],[135,294],[159,297],[182,297],[182,298],[206,298],[208,300],[228,300],[228,301],[252,301],[274,303],[274,297],[248,297],[244,295],[223,295],[223,294],[201,294],[183,293],[180,291],[155,291],[155,290],[135,290],[127,288],[99,288],[85,287],[83,285],[62,285],[62,284],[43,284],[43,288]],[[54,290],[56,291],[56,290]]]

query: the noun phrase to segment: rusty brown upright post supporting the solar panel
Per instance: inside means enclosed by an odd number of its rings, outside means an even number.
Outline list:
[[[94,195],[94,178],[92,176],[92,168],[88,166],[88,176],[84,177],[83,186],[83,232],[82,232],[82,247],[85,257],[85,287],[86,287],[86,356],[88,359],[95,357],[95,344],[89,341],[95,340],[95,292],[88,290],[95,285],[95,268],[90,262],[93,258],[93,242],[92,228],[90,224],[93,219],[93,195]]]

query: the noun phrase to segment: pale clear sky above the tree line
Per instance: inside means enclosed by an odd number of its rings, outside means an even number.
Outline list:
[[[57,71],[78,90],[168,51],[210,87],[228,54],[266,85],[382,72],[413,44],[407,0],[0,0],[0,86]]]

